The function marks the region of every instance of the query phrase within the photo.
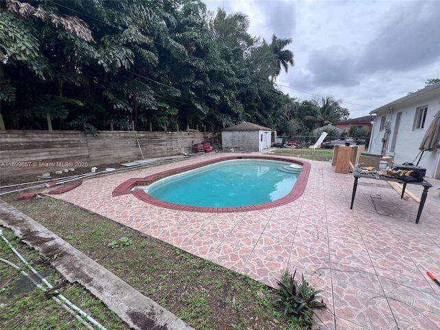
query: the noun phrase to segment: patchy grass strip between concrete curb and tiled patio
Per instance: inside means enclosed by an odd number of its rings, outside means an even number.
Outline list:
[[[195,329],[303,329],[272,303],[275,289],[248,276],[70,203],[52,197],[29,200],[17,197],[14,193],[3,198]],[[121,243],[121,239],[129,239],[131,243],[123,248],[109,246],[112,241]],[[100,311],[98,307],[95,309]],[[106,320],[111,322],[113,316]],[[0,329],[5,329],[1,323]],[[109,329],[122,328],[110,326]]]

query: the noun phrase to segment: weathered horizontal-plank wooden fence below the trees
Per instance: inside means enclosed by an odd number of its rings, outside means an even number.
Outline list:
[[[191,153],[201,132],[0,131],[0,175],[28,175],[64,168],[115,164]]]

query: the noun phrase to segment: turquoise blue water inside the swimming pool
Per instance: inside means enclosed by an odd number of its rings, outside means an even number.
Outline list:
[[[188,170],[144,189],[157,199],[188,206],[235,207],[289,194],[302,166],[265,159],[234,159]]]

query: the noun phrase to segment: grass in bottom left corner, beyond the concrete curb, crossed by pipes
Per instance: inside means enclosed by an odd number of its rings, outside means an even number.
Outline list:
[[[53,286],[59,286],[58,292],[74,305],[107,329],[129,328],[87,289],[76,283],[67,283],[61,274],[52,269],[45,258],[28,245],[21,243],[11,230],[3,227],[0,229],[3,230],[3,236],[23,258],[35,270],[47,274],[44,275],[47,281]],[[32,274],[3,239],[0,239],[0,256],[17,265],[27,274]],[[50,295],[45,294],[39,287],[28,284],[30,283],[23,278],[19,270],[0,261],[0,329],[85,329],[81,322],[58,305]]]

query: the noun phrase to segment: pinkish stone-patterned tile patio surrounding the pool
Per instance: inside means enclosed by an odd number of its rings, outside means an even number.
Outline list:
[[[298,270],[323,290],[328,311],[321,329],[440,329],[440,196],[419,204],[400,199],[384,181],[359,181],[350,210],[352,175],[329,162],[307,161],[303,196],[285,206],[237,213],[159,208],[133,195],[112,197],[133,177],[201,162],[206,154],[173,164],[87,179],[56,198],[113,219],[203,259],[276,287],[281,272]],[[420,196],[420,187],[408,185]]]

